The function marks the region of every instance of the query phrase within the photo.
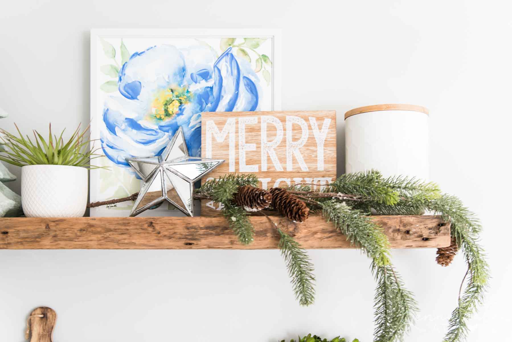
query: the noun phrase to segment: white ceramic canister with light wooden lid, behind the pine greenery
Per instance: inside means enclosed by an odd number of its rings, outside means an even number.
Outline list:
[[[385,177],[429,178],[429,110],[376,105],[345,113],[346,172],[379,170]]]

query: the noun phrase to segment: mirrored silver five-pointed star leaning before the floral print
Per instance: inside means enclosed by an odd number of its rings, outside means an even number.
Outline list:
[[[190,157],[183,129],[176,132],[161,155],[126,158],[144,180],[130,216],[168,201],[188,216],[194,216],[194,183],[215,169],[223,159]]]

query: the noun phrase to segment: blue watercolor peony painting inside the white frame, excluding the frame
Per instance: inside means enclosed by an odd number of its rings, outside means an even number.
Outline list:
[[[137,189],[126,158],[159,155],[180,127],[190,155],[200,156],[202,112],[273,109],[267,38],[118,40],[98,41],[101,112],[93,120],[101,120],[104,164],[115,167],[115,179],[99,172],[98,197]]]

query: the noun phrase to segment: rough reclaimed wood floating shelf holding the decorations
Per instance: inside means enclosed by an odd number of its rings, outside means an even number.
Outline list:
[[[439,216],[372,216],[392,248],[450,245]],[[273,216],[307,249],[355,248],[331,223],[310,216],[296,224]],[[0,249],[276,249],[279,235],[264,216],[252,216],[254,241],[242,245],[224,217],[0,218]]]

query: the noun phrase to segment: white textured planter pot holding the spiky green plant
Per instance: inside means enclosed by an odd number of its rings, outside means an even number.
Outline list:
[[[22,167],[22,207],[27,217],[82,217],[89,189],[86,168]]]

